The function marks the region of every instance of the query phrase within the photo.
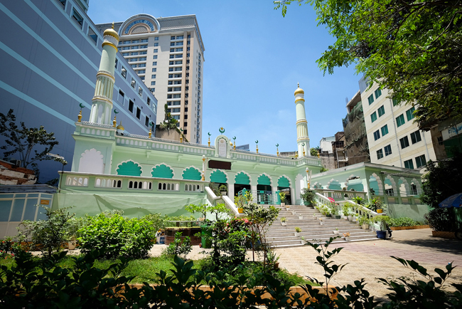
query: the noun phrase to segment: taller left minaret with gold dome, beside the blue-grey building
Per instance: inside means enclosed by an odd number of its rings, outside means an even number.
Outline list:
[[[112,28],[104,31],[100,70],[96,75],[95,95],[92,98],[90,122],[112,125],[112,92],[114,90],[114,66],[119,35]]]

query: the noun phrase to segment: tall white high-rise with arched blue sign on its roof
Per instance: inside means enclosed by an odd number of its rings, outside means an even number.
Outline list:
[[[97,25],[100,31],[111,26]],[[159,102],[156,124],[163,122],[167,104],[188,141],[200,143],[205,59],[195,15],[156,18],[138,14],[114,23],[114,30],[120,36],[119,52]],[[136,103],[129,104],[134,110]]]

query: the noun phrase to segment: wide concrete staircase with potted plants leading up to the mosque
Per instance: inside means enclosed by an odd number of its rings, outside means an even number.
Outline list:
[[[292,211],[296,211],[296,214],[292,214]],[[316,220],[313,219],[313,214],[316,214]],[[283,216],[287,219],[286,226],[281,226],[280,219]],[[299,219],[299,216],[303,216],[303,219]],[[323,218],[324,225],[320,224],[319,218]],[[300,236],[295,236],[296,226],[301,229]],[[335,228],[339,231],[338,235],[333,234]],[[343,216],[342,219],[327,218],[318,209],[291,205],[289,211],[286,211],[284,207],[279,211],[279,218],[267,230],[267,241],[276,248],[284,248],[303,246],[305,242],[302,241],[301,237],[311,242],[320,241],[324,243],[331,237],[340,236],[339,239],[335,239],[333,242],[346,243],[347,241],[343,238],[343,233],[346,232],[350,233],[350,241],[348,242],[377,240],[375,231],[361,229],[355,222],[343,219]]]

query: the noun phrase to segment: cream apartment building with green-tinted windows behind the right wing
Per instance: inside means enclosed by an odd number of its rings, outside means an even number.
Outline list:
[[[414,123],[414,107],[397,104],[390,92],[360,80],[370,161],[408,169],[419,169],[429,159],[435,160],[431,133],[419,130]]]

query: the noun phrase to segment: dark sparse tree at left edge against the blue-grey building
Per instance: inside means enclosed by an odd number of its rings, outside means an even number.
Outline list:
[[[36,162],[43,160],[55,160],[62,164],[67,164],[64,159],[48,156],[48,152],[53,151],[53,147],[58,145],[53,132],[46,132],[43,125],[40,127],[27,128],[24,122],[16,125],[16,116],[13,110],[4,115],[0,112],[0,135],[5,137],[5,144],[0,147],[4,152],[4,157],[17,154],[21,160],[21,167],[31,165],[37,168]],[[36,146],[43,146],[41,151],[36,150]]]

